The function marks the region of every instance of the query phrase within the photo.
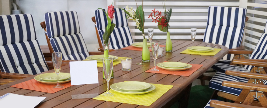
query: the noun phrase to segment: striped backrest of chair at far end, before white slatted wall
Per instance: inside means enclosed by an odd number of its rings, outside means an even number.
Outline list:
[[[239,47],[244,34],[246,13],[246,8],[210,6],[203,42],[224,45],[229,49]],[[231,60],[232,57],[228,54],[224,59]]]

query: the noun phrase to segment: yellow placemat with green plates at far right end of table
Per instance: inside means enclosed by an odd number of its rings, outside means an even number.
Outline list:
[[[182,54],[196,54],[196,55],[210,55],[214,56],[222,49],[220,48],[212,48],[212,47],[202,47],[202,46],[192,46],[187,47],[186,50],[180,52]]]

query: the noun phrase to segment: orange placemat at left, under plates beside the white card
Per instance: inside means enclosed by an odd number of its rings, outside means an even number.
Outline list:
[[[63,90],[65,88],[71,87],[71,82],[68,83],[61,83],[61,86],[64,86],[63,88],[53,88],[56,84],[45,84],[45,83],[40,83],[36,81],[35,79],[27,80],[22,83],[18,83],[15,85],[12,85],[10,87],[16,87],[16,88],[21,88],[21,89],[28,89],[28,90],[35,90],[35,91],[40,91],[40,92],[46,92],[46,93],[55,93],[60,90]]]

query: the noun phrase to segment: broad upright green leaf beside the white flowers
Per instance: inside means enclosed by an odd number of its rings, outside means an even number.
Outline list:
[[[138,28],[140,31],[142,31],[142,33],[144,34],[144,22],[145,22],[145,16],[144,16],[144,11],[143,11],[143,7],[142,5],[140,5],[136,11],[135,11],[135,16],[137,17],[137,19],[139,19],[138,21],[140,22],[139,27]]]

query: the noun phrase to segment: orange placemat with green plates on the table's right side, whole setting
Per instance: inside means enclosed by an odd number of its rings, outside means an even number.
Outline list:
[[[162,62],[158,63],[155,67],[147,70],[146,72],[158,74],[171,74],[180,76],[190,76],[203,64],[186,64],[181,62]],[[158,71],[153,71],[154,69]]]

